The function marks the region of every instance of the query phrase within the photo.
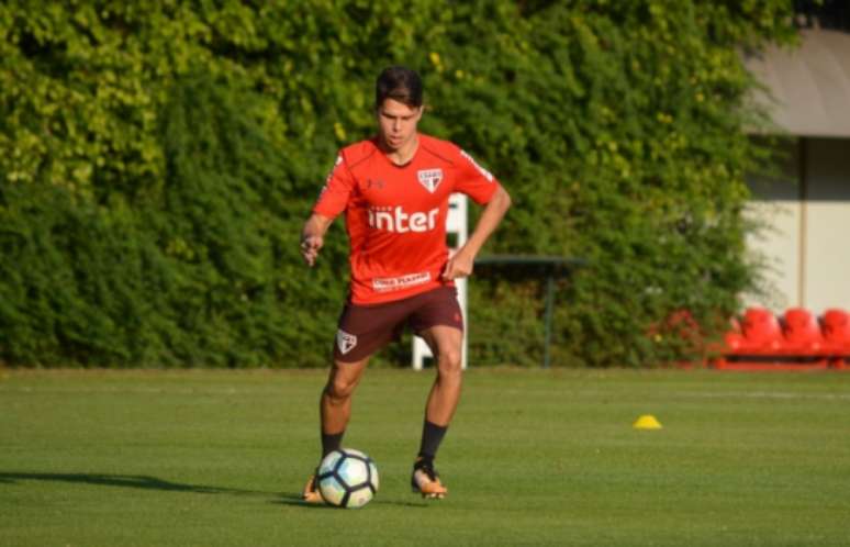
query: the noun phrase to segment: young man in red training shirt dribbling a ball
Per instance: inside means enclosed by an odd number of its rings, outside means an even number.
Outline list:
[[[437,359],[411,485],[423,496],[437,499],[447,489],[434,458],[461,384],[463,322],[452,280],[472,274],[476,255],[511,198],[456,145],[417,133],[423,100],[415,71],[383,70],[374,104],[377,136],[340,150],[301,236],[301,253],[312,267],[327,228],[345,212],[351,280],[320,402],[322,456],[340,446],[351,394],[369,358],[410,325]],[[466,245],[449,257],[446,215],[452,192],[470,196],[484,209]],[[322,501],[314,477],[303,496]]]

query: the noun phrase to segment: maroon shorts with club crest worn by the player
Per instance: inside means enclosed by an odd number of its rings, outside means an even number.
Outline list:
[[[414,333],[436,325],[462,331],[463,315],[457,290],[440,287],[385,304],[358,305],[348,302],[339,316],[334,359],[354,362],[369,357],[390,342],[398,341],[406,325]]]

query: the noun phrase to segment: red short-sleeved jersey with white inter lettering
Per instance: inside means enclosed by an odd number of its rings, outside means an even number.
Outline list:
[[[393,164],[377,138],[343,148],[313,212],[345,211],[350,239],[350,299],[377,304],[451,284],[446,215],[452,192],[489,202],[499,181],[457,145],[418,135],[413,159]]]

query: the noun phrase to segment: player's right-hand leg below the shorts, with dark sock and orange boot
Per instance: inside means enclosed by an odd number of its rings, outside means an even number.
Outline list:
[[[434,458],[460,400],[463,333],[452,326],[436,325],[422,331],[420,336],[437,359],[437,377],[425,405],[422,443],[411,482],[426,498],[443,498],[447,490],[434,469]]]

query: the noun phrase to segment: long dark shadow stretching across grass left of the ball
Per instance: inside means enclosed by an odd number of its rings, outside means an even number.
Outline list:
[[[204,487],[181,484],[142,475],[97,475],[97,473],[9,473],[0,472],[0,484],[21,481],[69,482],[72,484],[96,484],[102,487],[141,488],[144,490],[165,490],[170,492],[194,492],[201,494],[235,495],[276,495],[275,492],[259,492],[237,488]]]

